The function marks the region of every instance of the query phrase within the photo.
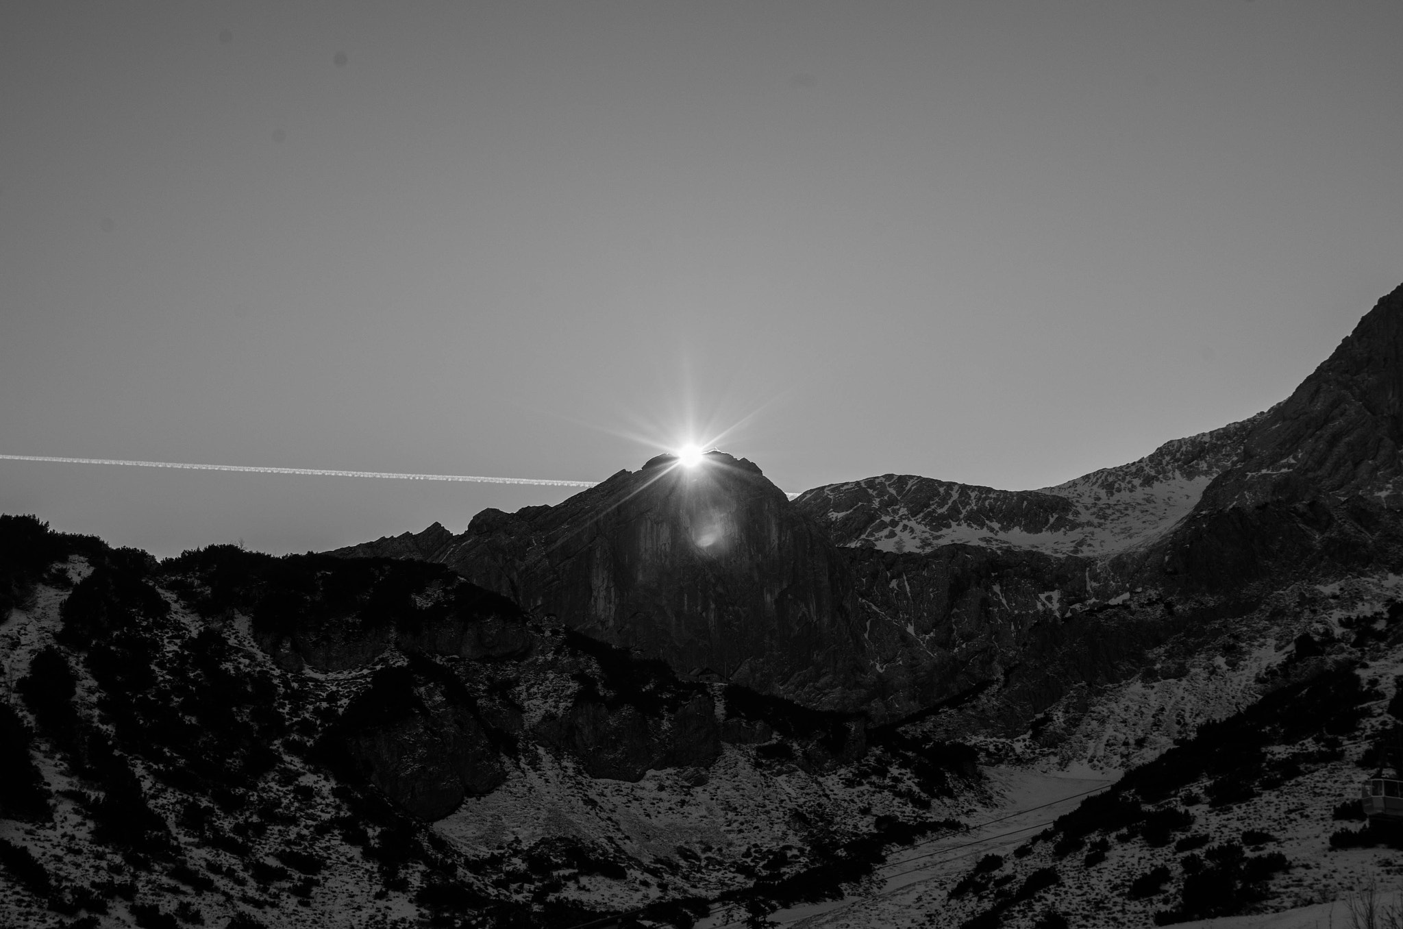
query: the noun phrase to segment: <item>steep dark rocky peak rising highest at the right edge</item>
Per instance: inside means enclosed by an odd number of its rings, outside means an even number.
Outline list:
[[[1222,594],[1395,570],[1403,557],[1403,286],[1243,439],[1190,518],[1118,570]],[[1128,568],[1128,571],[1127,571]]]

